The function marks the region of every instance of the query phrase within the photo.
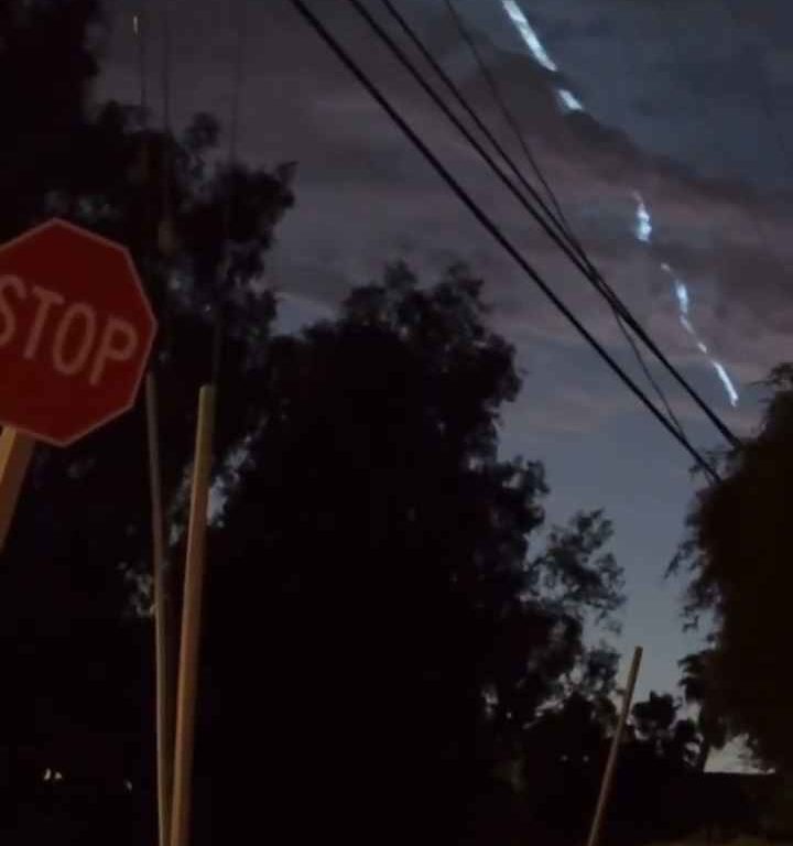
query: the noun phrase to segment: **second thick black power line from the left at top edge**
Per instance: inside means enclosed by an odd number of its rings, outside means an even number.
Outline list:
[[[366,7],[362,6],[362,3],[359,2],[359,0],[349,0],[349,3],[365,19],[365,21],[369,24],[370,29],[374,32],[374,34],[389,47],[389,50],[394,54],[394,56],[403,65],[403,67],[411,74],[411,76],[413,76],[413,78],[425,91],[425,94],[444,112],[444,115],[448,118],[448,120],[450,120],[452,123],[454,123],[454,126],[464,135],[464,138],[468,141],[468,143],[471,147],[474,147],[474,149],[490,166],[490,169],[499,177],[499,180],[506,185],[506,187],[513,194],[513,196],[518,199],[518,202],[540,224],[540,226],[544,229],[547,236],[554,241],[554,243],[556,243],[556,246],[569,258],[569,260],[578,268],[578,270],[583,273],[583,275],[598,291],[598,293],[600,293],[609,302],[611,307],[619,312],[620,316],[626,321],[626,323],[628,323],[628,325],[633,329],[637,336],[641,338],[641,340],[652,350],[653,355],[655,355],[655,357],[672,373],[675,380],[685,389],[685,391],[696,402],[696,404],[705,412],[705,414],[708,416],[710,422],[716,426],[716,429],[719,430],[719,432],[728,441],[728,443],[730,443],[730,445],[734,447],[739,446],[740,441],[732,434],[732,432],[724,423],[724,421],[721,421],[721,419],[716,414],[716,412],[714,412],[713,409],[710,409],[710,406],[702,399],[702,397],[699,397],[699,394],[694,390],[694,388],[691,387],[691,384],[678,372],[678,370],[669,361],[666,356],[661,351],[661,349],[659,349],[658,345],[648,335],[648,333],[644,330],[641,324],[636,319],[636,317],[633,317],[633,315],[630,313],[630,311],[624,305],[624,303],[621,302],[621,300],[617,296],[615,291],[608,285],[608,283],[601,276],[601,274],[597,271],[597,269],[595,269],[591,265],[591,262],[589,262],[588,259],[586,258],[582,259],[573,249],[571,249],[571,246],[566,242],[564,235],[560,237],[560,235],[556,231],[554,231],[554,229],[551,227],[547,220],[536,210],[536,208],[534,208],[534,206],[532,206],[532,204],[515,187],[514,183],[499,167],[498,163],[493,160],[493,158],[477,141],[477,139],[465,127],[465,124],[459,120],[459,118],[457,118],[457,116],[449,109],[449,107],[438,96],[438,94],[434,90],[434,88],[426,82],[426,79],[424,79],[421,73],[416,69],[415,65],[413,65],[410,58],[404,54],[401,47],[388,34],[388,32],[385,32],[383,28],[377,22],[377,20],[372,18],[372,15],[369,13]],[[419,39],[419,36],[415,35],[415,33],[413,35],[415,41],[421,43],[421,40]],[[428,55],[432,55],[428,53],[428,51],[426,52]],[[434,58],[432,61],[434,62],[435,65],[437,64],[435,63]],[[448,78],[447,75],[445,76],[446,78]],[[457,96],[459,97],[461,105],[464,105],[464,108],[466,108],[466,111],[476,115],[476,112],[474,112],[474,110],[470,108],[470,106],[467,104],[463,95],[459,93],[459,90],[454,85],[454,83],[452,83],[450,79],[449,79],[449,84],[454,86],[454,89],[457,93]],[[477,120],[479,120],[478,117],[477,117]],[[536,189],[530,186],[525,182],[525,180],[522,180],[522,183],[528,187],[529,192],[532,194],[532,196],[541,206],[541,208],[543,208],[543,210],[547,215],[553,217],[552,213],[547,209],[547,206],[544,204],[542,197],[539,196]],[[558,221],[556,221],[556,226],[557,227],[560,226]]]

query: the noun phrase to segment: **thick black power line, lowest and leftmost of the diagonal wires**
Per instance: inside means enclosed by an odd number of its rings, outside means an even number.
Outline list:
[[[322,21],[314,14],[314,12],[303,2],[303,0],[291,0],[292,6],[303,17],[303,19],[312,26],[312,29],[319,35],[319,37],[327,44],[327,46],[335,53],[339,61],[347,67],[347,69],[355,76],[355,78],[366,88],[371,97],[379,104],[379,106],[385,111],[391,120],[402,130],[413,145],[422,153],[426,161],[434,167],[437,174],[444,180],[450,191],[457,196],[457,198],[468,208],[468,210],[476,217],[479,224],[487,229],[492,238],[499,243],[499,246],[510,254],[515,263],[523,270],[523,272],[532,279],[532,281],[540,288],[540,290],[547,296],[548,300],[556,306],[556,308],[567,318],[569,323],[577,329],[577,332],[588,341],[588,344],[598,352],[600,358],[613,370],[615,373],[624,382],[629,390],[648,408],[653,416],[666,429],[670,434],[677,441],[683,448],[695,459],[695,462],[705,470],[711,480],[719,480],[716,469],[708,464],[708,462],[702,456],[702,454],[694,447],[689,441],[682,435],[670,423],[669,420],[655,408],[655,405],[647,398],[644,392],[628,373],[619,366],[619,364],[609,355],[609,352],[600,345],[600,343],[589,333],[589,330],[580,323],[580,321],[573,314],[573,312],[564,304],[564,302],[553,292],[548,284],[537,273],[537,271],[523,258],[519,250],[512,245],[507,236],[501,231],[499,226],[491,220],[491,218],[480,208],[476,200],[465,191],[465,188],[455,180],[452,173],[443,164],[443,162],[433,153],[432,150],[425,144],[425,142],[419,137],[415,130],[408,123],[408,121],[394,109],[391,102],[384,97],[374,83],[367,76],[367,74],[360,68],[355,59],[349,55],[346,48],[334,37],[334,35],[327,30]]]

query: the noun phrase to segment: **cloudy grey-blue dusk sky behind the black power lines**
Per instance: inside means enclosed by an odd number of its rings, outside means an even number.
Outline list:
[[[286,0],[236,2],[245,15],[241,40],[230,0],[173,0],[174,121],[181,126],[198,110],[228,121],[241,47],[240,156],[267,166],[298,162],[297,204],[279,228],[267,280],[282,294],[282,324],[333,314],[351,284],[373,280],[387,261],[406,259],[427,282],[449,262],[467,261],[486,281],[492,323],[515,345],[524,371],[522,393],[504,414],[503,454],[545,462],[551,520],[593,507],[612,518],[612,549],[629,595],[619,644],[626,658],[634,643],[645,648],[637,695],[673,691],[677,660],[702,639],[682,631],[683,583],[663,578],[695,489],[688,455],[449,194]],[[647,387],[605,303],[348,4],[309,4]],[[110,37],[100,98],[138,99],[132,17],[142,6],[106,3]],[[149,83],[159,119],[162,3],[149,6]],[[523,164],[443,0],[398,6]],[[589,256],[734,431],[750,432],[762,410],[752,382],[790,358],[785,338],[793,325],[785,273],[793,251],[790,2],[518,6],[544,58],[532,53],[501,0],[457,0]],[[369,0],[369,8],[387,20],[379,2]],[[561,89],[585,111],[565,111]],[[647,216],[638,216],[640,209]],[[687,314],[675,282],[685,285]],[[737,406],[713,362],[734,383]],[[692,441],[721,445],[667,375],[654,372]]]

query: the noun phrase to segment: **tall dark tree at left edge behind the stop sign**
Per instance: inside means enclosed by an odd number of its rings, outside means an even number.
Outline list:
[[[171,554],[178,561],[196,395],[213,370],[215,315],[225,337],[220,378],[238,389],[226,393],[218,419],[218,476],[257,416],[247,387],[261,378],[274,299],[251,281],[292,203],[289,171],[222,164],[220,128],[209,116],[196,116],[175,138],[145,129],[137,107],[91,101],[102,34],[94,2],[6,0],[0,26],[11,128],[0,140],[0,185],[14,198],[0,213],[0,238],[58,215],[131,249],[160,318],[152,364]],[[174,232],[167,253],[156,239],[165,195]],[[74,842],[152,839],[148,491],[140,405],[75,447],[36,451],[0,567],[0,655],[13,679],[0,704],[3,833],[43,842],[42,826],[67,836],[65,821],[76,831],[83,818]],[[62,780],[44,782],[56,770]],[[121,804],[78,801],[80,790],[87,798],[117,791]]]

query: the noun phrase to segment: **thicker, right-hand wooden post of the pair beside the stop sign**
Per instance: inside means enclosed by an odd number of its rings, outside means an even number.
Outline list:
[[[205,384],[198,397],[198,425],[187,530],[170,846],[187,846],[189,842],[193,748],[198,692],[198,644],[214,422],[215,388]]]

